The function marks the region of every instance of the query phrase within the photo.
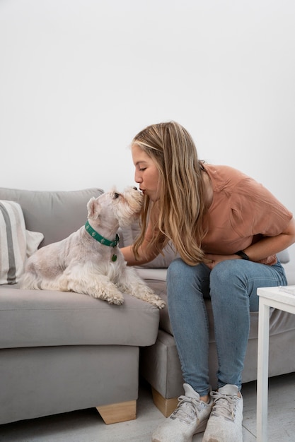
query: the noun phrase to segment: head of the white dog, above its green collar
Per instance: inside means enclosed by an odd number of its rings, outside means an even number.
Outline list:
[[[143,196],[136,187],[127,187],[119,193],[115,188],[88,201],[88,219],[99,220],[100,225],[125,227],[139,217]]]

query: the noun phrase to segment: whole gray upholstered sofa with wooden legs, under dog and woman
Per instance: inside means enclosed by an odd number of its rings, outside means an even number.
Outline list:
[[[20,203],[25,228],[42,232],[40,246],[58,241],[86,221],[86,203],[100,189],[33,192],[0,189],[0,201]],[[138,232],[120,231],[120,246]],[[166,269],[175,257],[164,256],[137,269],[166,300]],[[294,263],[280,254],[289,284]],[[210,380],[216,384],[216,347],[210,319]],[[258,313],[251,313],[243,382],[256,379]],[[270,318],[270,376],[295,371],[295,316],[273,310]],[[138,371],[151,385],[154,402],[168,416],[183,394],[180,362],[168,311],[126,297],[122,306],[86,295],[20,290],[0,285],[0,424],[88,407],[98,407],[106,423],[134,419]]]

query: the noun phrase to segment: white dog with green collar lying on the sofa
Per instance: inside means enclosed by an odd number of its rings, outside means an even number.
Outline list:
[[[125,292],[163,309],[165,302],[127,267],[118,247],[118,227],[136,220],[141,206],[142,195],[132,187],[91,198],[85,226],[28,258],[21,288],[84,293],[118,305]]]

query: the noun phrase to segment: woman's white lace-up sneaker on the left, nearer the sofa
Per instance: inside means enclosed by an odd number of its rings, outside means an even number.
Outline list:
[[[153,442],[191,442],[192,436],[206,428],[213,400],[199,400],[199,394],[184,383],[185,395],[178,398],[178,407],[152,435]]]

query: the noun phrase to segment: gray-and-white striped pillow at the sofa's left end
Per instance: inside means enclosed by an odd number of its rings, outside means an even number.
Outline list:
[[[16,284],[23,273],[27,239],[21,205],[0,201],[0,284]]]

